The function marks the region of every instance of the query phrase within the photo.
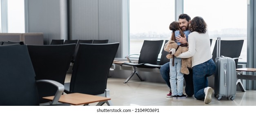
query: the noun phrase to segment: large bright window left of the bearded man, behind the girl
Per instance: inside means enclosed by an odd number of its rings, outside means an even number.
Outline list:
[[[169,40],[175,21],[175,0],[129,0],[130,54],[139,54],[144,40]]]

